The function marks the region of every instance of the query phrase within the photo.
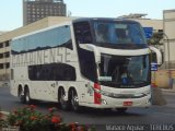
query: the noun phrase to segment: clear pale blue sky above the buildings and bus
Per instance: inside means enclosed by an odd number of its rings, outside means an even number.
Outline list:
[[[163,10],[175,9],[175,0],[65,0],[71,16],[117,17],[145,13],[147,19],[163,19]],[[22,0],[0,0],[0,31],[23,26]]]

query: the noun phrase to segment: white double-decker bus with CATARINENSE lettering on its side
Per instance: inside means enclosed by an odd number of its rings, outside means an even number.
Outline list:
[[[77,19],[11,40],[11,94],[62,109],[151,105],[150,49],[138,22]]]

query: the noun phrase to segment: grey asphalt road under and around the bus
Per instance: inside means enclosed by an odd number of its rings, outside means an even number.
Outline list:
[[[49,107],[58,107],[58,114],[60,114],[65,122],[96,124],[103,128],[106,124],[149,124],[149,127],[154,124],[175,124],[175,93],[164,93],[163,95],[167,102],[165,106],[154,105],[150,108],[130,108],[126,114],[91,108],[84,108],[81,114],[78,114],[60,110],[57,104],[43,102],[36,103],[36,106],[43,112],[47,112]],[[16,97],[10,95],[8,87],[0,87],[0,107],[2,110],[10,111],[23,106]],[[175,130],[175,127],[173,130]]]

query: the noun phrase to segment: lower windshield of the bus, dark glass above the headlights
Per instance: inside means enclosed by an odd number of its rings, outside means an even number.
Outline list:
[[[149,56],[102,55],[100,82],[106,86],[138,87],[150,84]]]

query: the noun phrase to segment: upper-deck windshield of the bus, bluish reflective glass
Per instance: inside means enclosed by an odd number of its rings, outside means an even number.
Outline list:
[[[98,46],[105,47],[144,47],[147,40],[143,29],[136,22],[106,22],[94,21],[94,40]]]

